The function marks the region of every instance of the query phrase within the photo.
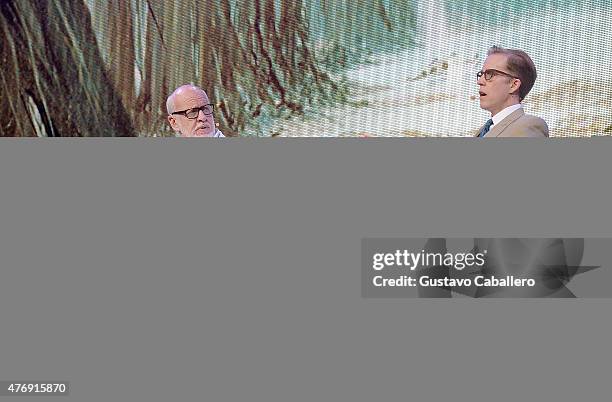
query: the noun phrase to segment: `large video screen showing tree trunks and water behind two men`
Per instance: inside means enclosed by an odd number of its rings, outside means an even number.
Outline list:
[[[477,78],[492,46],[533,61],[521,104],[548,136],[612,134],[609,0],[0,7],[2,136],[174,136],[168,97],[185,84],[225,136],[475,136],[494,114],[481,89],[517,76]]]

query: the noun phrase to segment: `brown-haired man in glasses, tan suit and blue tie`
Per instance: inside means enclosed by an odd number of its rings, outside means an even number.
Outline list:
[[[525,114],[521,105],[537,77],[527,53],[493,46],[476,76],[480,107],[491,113],[476,137],[548,137],[546,122]]]

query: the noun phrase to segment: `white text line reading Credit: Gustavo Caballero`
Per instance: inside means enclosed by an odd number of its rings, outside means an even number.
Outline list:
[[[472,278],[432,278],[427,275],[413,277],[401,275],[394,278],[385,278],[377,275],[372,278],[376,287],[533,287],[536,282],[533,278],[518,278],[513,275],[498,277],[494,275],[477,275]]]

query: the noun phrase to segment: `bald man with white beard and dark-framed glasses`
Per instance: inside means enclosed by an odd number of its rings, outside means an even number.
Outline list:
[[[166,101],[168,122],[178,137],[225,137],[217,129],[214,105],[195,85],[178,87]]]

